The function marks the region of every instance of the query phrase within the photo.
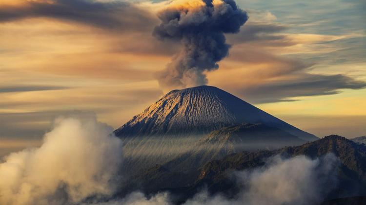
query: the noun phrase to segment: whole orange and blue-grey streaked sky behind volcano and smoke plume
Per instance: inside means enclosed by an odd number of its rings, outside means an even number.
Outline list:
[[[318,137],[366,135],[366,2],[236,3],[249,18],[224,32],[228,55],[199,83]],[[171,5],[0,0],[0,155],[41,144],[59,116],[118,128],[170,89],[194,85],[161,80],[183,47],[154,34]]]

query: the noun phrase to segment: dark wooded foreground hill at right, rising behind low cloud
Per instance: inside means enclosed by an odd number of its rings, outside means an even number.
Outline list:
[[[245,170],[263,166],[270,156],[281,154],[284,157],[305,155],[310,158],[333,153],[340,160],[339,184],[332,191],[333,197],[358,196],[366,194],[366,147],[345,137],[336,135],[324,137],[297,147],[286,147],[276,151],[241,152],[231,154],[221,160],[207,163],[192,187],[207,185],[212,192],[232,191],[235,182],[228,174],[233,170]]]

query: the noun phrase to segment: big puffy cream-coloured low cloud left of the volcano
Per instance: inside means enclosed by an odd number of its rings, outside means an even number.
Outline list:
[[[0,164],[0,204],[74,204],[114,193],[122,141],[96,119],[58,119],[39,148]]]

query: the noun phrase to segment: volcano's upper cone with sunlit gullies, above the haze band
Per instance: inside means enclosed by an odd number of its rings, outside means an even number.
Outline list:
[[[214,86],[172,90],[115,131],[118,137],[202,135],[225,126],[264,124],[301,139],[317,137]]]

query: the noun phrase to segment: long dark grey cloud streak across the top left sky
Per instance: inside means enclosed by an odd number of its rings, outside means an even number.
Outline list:
[[[30,17],[50,17],[119,31],[142,31],[153,25],[155,17],[125,1],[18,0],[0,7],[0,22]]]

